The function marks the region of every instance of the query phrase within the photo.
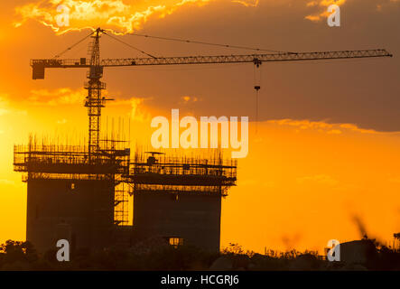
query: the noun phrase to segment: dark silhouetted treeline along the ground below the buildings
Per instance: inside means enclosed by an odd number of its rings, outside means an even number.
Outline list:
[[[312,251],[270,250],[260,255],[230,244],[220,253],[209,253],[155,244],[97,252],[81,249],[71,252],[70,262],[59,262],[56,249],[38,254],[29,242],[8,240],[0,246],[0,270],[400,270],[400,253],[387,247],[377,248],[377,260],[366,266],[329,262]]]

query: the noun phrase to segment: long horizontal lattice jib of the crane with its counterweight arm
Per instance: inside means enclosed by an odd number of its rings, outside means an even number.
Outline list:
[[[392,57],[384,49],[364,51],[317,51],[317,52],[284,52],[272,54],[216,55],[216,56],[182,56],[159,58],[104,59],[100,67],[143,66],[143,65],[184,65],[184,64],[223,64],[223,63],[259,63],[268,61],[323,61],[356,58]],[[47,68],[89,68],[86,58],[32,60],[33,79],[44,79]]]

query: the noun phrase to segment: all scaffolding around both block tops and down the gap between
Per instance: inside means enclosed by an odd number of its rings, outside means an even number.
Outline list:
[[[89,158],[87,145],[14,145],[14,171],[23,172],[23,181],[100,181],[114,185],[114,224],[132,224],[130,197],[134,193],[189,193],[227,196],[236,185],[237,160],[223,159],[220,151],[207,157],[187,157],[136,150],[131,163],[130,149],[123,141],[106,139]]]

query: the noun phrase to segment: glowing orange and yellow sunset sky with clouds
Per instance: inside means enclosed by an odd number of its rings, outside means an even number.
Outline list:
[[[248,116],[249,153],[237,187],[223,201],[221,245],[319,249],[330,239],[391,241],[400,231],[400,1],[340,0],[341,26],[326,23],[329,0],[15,0],[0,17],[0,242],[25,238],[26,184],[13,172],[13,145],[28,135],[87,136],[86,70],[46,70],[33,80],[31,59],[52,58],[107,28],[155,56],[237,54],[231,50],[133,36],[228,43],[274,51],[385,48],[394,58],[267,63],[261,67],[256,120],[252,64],[106,69],[103,110],[131,120],[130,140],[150,144],[152,117]],[[70,26],[58,27],[68,5]],[[88,42],[63,58],[87,56]],[[102,58],[144,57],[106,36]],[[127,136],[127,134],[126,134]],[[228,154],[227,154],[228,155]]]

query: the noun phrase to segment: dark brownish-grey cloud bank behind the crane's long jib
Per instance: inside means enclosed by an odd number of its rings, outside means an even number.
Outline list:
[[[314,23],[305,19],[306,15],[321,10],[318,6],[307,6],[307,2],[261,1],[257,7],[230,1],[201,7],[187,5],[163,19],[145,23],[140,33],[282,51],[386,48],[395,54],[393,59],[263,64],[259,119],[326,120],[379,131],[400,130],[400,3],[349,0],[341,8],[341,27],[330,28],[324,20]],[[15,30],[23,34],[32,32],[29,27],[34,27],[39,32],[36,42],[27,41],[23,49],[16,50],[23,53],[14,55],[25,73],[29,73],[26,66],[30,58],[51,57],[86,33],[55,36],[40,24],[28,24]],[[121,39],[162,56],[251,53],[130,35]],[[106,38],[102,45],[103,57],[138,56]],[[85,56],[86,50],[81,48],[80,53]],[[71,53],[75,57],[78,54]],[[84,72],[48,71],[48,79],[35,82],[33,89],[66,85],[78,89],[84,75]],[[28,77],[21,75],[21,79]],[[152,100],[147,105],[157,108],[184,109],[179,104],[181,98],[191,96],[202,100],[191,107],[197,115],[255,117],[254,69],[250,64],[109,69],[105,80],[111,93],[118,91],[126,98],[149,98]]]

